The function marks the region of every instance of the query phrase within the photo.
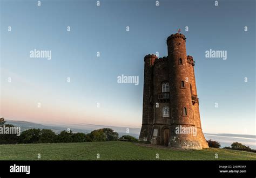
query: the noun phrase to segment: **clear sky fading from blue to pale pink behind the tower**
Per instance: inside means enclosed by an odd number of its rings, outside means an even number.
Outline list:
[[[1,0],[0,15],[0,117],[140,127],[144,56],[166,56],[166,38],[180,28],[196,61],[203,131],[255,134],[253,0]],[[30,58],[34,49],[52,59]],[[227,60],[205,58],[209,49],[227,51]],[[139,76],[139,85],[117,83],[122,74]]]

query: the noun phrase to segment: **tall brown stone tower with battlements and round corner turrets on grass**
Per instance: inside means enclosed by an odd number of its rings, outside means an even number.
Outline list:
[[[184,149],[208,148],[201,129],[194,60],[185,35],[167,38],[168,56],[144,58],[143,123],[139,140]]]

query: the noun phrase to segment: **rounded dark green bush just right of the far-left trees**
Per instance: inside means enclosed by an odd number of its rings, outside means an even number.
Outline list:
[[[36,144],[39,142],[40,137],[41,137],[40,129],[28,129],[21,133],[21,136],[19,137],[19,143]]]

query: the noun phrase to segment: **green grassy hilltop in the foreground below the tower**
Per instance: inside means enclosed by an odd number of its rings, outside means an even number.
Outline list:
[[[0,160],[38,160],[38,153],[40,160],[256,160],[256,153],[251,152],[219,148],[180,150],[123,141],[0,145]]]

